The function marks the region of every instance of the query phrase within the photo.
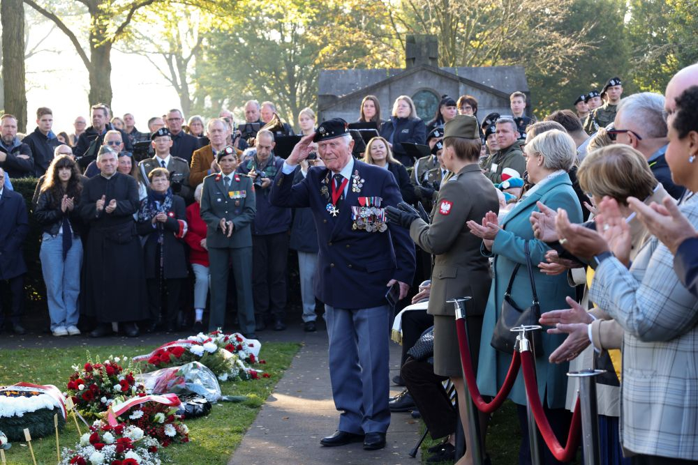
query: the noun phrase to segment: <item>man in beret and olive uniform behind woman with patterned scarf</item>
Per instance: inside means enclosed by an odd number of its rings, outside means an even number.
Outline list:
[[[189,187],[189,164],[184,158],[170,155],[172,136],[167,128],[160,128],[150,136],[151,144],[155,149],[155,156],[147,158],[138,164],[141,178],[144,182],[149,178],[150,171],[156,168],[165,168],[170,171],[170,188],[172,192],[184,198],[191,204],[193,193]],[[147,183],[147,187],[150,187]]]

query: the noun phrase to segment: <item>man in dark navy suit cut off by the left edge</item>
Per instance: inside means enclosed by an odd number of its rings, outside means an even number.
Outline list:
[[[26,333],[20,325],[24,292],[24,273],[27,265],[22,257],[22,243],[29,231],[27,206],[17,192],[4,188],[5,171],[0,168],[0,281],[6,281],[12,296],[10,323],[15,334]],[[1,296],[0,296],[1,297]],[[0,307],[0,331],[5,315]]]

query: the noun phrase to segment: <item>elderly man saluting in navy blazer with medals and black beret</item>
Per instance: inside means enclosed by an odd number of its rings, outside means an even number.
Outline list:
[[[293,171],[314,151],[325,167],[312,167],[293,184]],[[383,208],[401,201],[392,174],[352,158],[354,142],[343,119],[330,119],[293,148],[276,175],[273,205],[310,207],[318,229],[315,296],[325,303],[329,376],[339,427],[322,445],[364,441],[385,446],[388,409],[388,330],[394,284],[407,295],[415,272],[415,247],[407,230],[385,222]]]

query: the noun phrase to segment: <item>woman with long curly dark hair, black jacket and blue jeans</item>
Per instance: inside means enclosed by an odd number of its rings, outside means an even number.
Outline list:
[[[82,178],[70,155],[58,155],[49,165],[34,209],[43,235],[39,258],[44,282],[51,333],[78,335],[77,297],[82,266],[82,220],[75,208],[82,192]]]

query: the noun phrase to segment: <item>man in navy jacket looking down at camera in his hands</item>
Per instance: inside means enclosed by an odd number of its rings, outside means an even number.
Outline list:
[[[252,289],[258,331],[265,329],[272,317],[274,330],[286,328],[286,258],[291,211],[272,206],[269,201],[272,179],[283,165],[283,159],[274,156],[273,149],[272,132],[260,130],[255,148],[245,152],[251,158],[237,167],[239,173],[252,179],[255,189],[257,215],[252,225]]]

